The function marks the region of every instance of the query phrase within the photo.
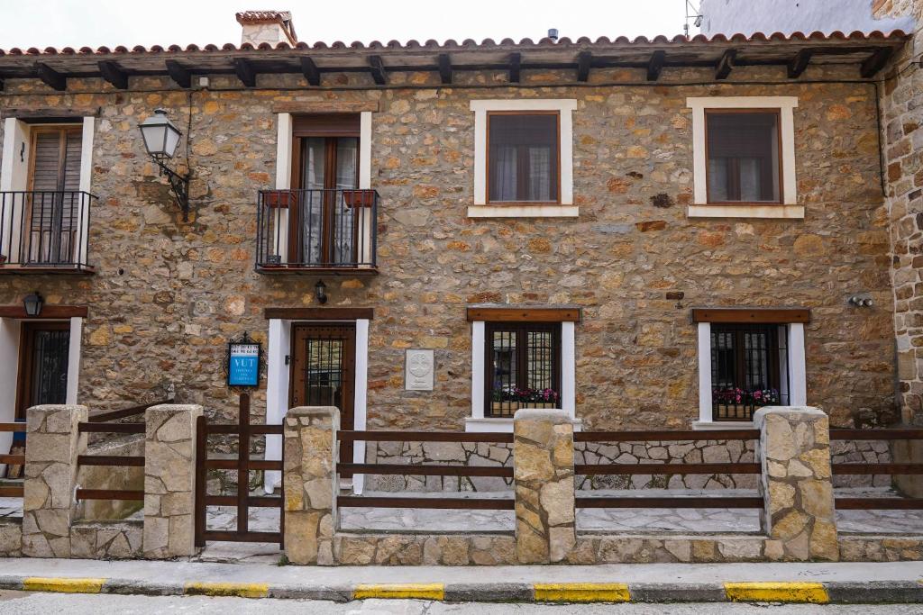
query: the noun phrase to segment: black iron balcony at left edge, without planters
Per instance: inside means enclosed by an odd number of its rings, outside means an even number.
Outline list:
[[[92,274],[90,206],[78,190],[0,192],[0,274]]]

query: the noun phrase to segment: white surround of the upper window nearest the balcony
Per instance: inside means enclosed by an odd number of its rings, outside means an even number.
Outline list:
[[[485,100],[471,101],[474,112],[474,204],[468,218],[574,218],[580,208],[574,205],[573,117],[576,99]],[[557,111],[560,117],[558,160],[561,202],[559,205],[487,204],[487,113],[493,111]]]

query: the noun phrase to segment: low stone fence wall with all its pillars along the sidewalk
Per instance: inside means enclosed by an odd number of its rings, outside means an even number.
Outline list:
[[[194,542],[198,406],[146,413],[143,522],[78,519],[81,406],[28,411],[21,529],[0,523],[0,555],[188,557]],[[827,416],[816,408],[761,408],[758,533],[581,532],[576,526],[573,422],[559,410],[514,420],[515,529],[508,533],[387,533],[339,528],[337,408],[292,408],[283,425],[284,552],[294,564],[535,564],[923,559],[923,538],[838,536]],[[642,505],[640,503],[639,505]]]

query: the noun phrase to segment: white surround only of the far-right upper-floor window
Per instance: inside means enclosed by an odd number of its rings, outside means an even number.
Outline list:
[[[803,219],[805,208],[798,205],[795,171],[795,108],[797,96],[707,96],[689,97],[692,110],[692,183],[694,203],[689,218],[782,218]],[[782,203],[712,205],[708,202],[708,160],[705,111],[712,109],[777,109],[782,150]]]

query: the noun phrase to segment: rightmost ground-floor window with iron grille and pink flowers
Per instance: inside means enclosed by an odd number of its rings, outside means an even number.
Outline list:
[[[712,325],[713,420],[789,404],[786,338],[785,325]]]

